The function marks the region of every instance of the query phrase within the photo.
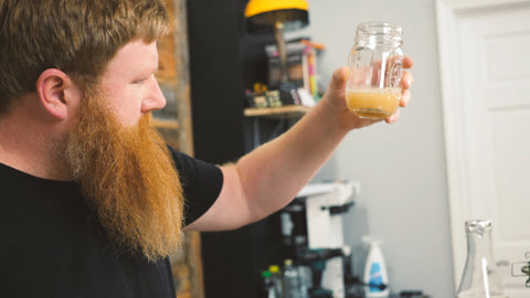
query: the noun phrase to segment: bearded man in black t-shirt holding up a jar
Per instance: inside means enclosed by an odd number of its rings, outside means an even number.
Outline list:
[[[375,123],[348,113],[340,68],[317,107],[235,164],[187,157],[149,125],[167,30],[159,0],[0,0],[0,297],[174,297],[182,230],[267,216]]]

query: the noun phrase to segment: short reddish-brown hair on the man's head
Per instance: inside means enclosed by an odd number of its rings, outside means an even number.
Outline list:
[[[0,115],[46,68],[97,83],[121,46],[168,30],[161,0],[0,0]]]

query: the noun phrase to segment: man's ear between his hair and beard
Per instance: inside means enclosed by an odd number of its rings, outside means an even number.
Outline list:
[[[44,109],[61,120],[74,113],[81,99],[77,85],[57,68],[47,68],[41,73],[36,79],[36,92]]]

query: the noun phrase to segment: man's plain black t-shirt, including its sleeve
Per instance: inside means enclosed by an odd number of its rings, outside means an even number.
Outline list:
[[[223,183],[219,168],[171,150],[184,221],[201,216]],[[74,182],[0,163],[0,297],[176,297],[169,260],[118,252]]]

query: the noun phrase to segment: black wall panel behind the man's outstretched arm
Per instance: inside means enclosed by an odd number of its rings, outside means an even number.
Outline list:
[[[266,83],[265,44],[272,36],[245,32],[247,0],[188,1],[190,86],[195,157],[222,164],[252,149],[245,89]],[[267,136],[272,120],[259,120]],[[206,298],[256,297],[259,273],[282,265],[277,214],[229,232],[201,233]]]

